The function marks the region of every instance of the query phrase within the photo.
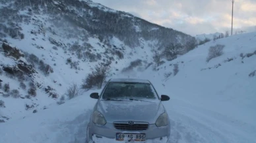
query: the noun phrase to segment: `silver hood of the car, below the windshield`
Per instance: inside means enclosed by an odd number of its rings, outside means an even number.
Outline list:
[[[96,109],[108,123],[142,121],[154,124],[159,115],[164,113],[160,101],[98,101]]]

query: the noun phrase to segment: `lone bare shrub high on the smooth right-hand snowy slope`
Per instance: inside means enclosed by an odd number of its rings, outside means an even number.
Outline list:
[[[220,55],[222,55],[224,47],[225,45],[220,45],[220,44],[211,46],[208,51],[207,62],[213,59],[214,57],[219,57]]]

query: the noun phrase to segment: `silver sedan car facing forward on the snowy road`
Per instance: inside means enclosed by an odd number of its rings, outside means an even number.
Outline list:
[[[163,142],[170,137],[170,119],[148,80],[116,78],[108,81],[94,106],[86,132],[87,143]]]

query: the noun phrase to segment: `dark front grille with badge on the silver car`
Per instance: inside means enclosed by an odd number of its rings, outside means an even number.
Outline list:
[[[115,129],[118,130],[146,130],[148,129],[148,124],[122,124],[122,123],[114,123]]]

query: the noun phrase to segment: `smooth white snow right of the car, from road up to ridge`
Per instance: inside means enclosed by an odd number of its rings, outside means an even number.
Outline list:
[[[208,48],[217,43],[226,45],[224,54],[207,63]],[[138,74],[154,74],[150,80],[161,83],[158,90],[170,95],[166,105],[174,121],[174,141],[256,142],[256,76],[249,76],[256,71],[255,45],[255,32],[230,36],[162,65],[158,73]],[[254,55],[242,59],[241,53]],[[173,72],[171,63],[178,63],[179,72],[166,80],[162,75]]]

